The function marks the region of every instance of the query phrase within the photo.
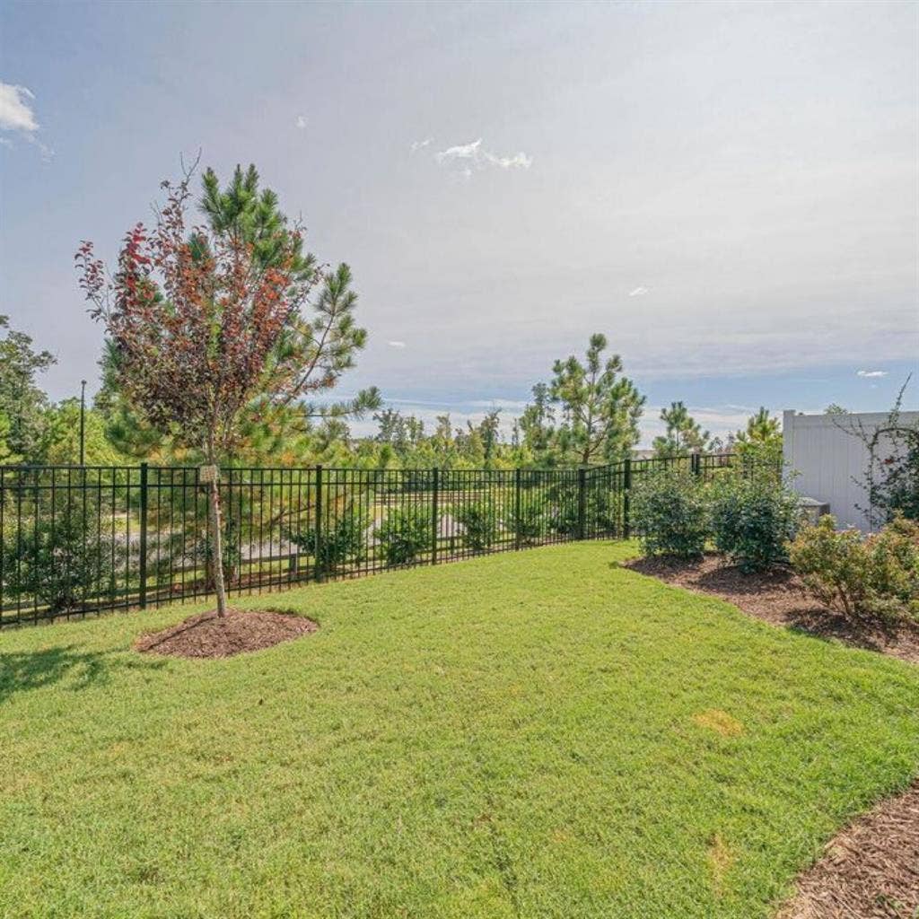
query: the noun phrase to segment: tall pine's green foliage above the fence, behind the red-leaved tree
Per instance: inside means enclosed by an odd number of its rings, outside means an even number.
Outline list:
[[[207,232],[191,233],[188,239],[189,251],[197,259],[212,255],[213,240],[230,238],[245,248],[258,271],[283,266],[292,285],[321,287],[312,315],[296,312],[289,316],[267,362],[270,372],[290,360],[299,361],[305,374],[302,385],[293,386],[282,398],[256,394],[242,410],[233,444],[233,459],[244,465],[285,458],[308,462],[322,456],[333,439],[346,443],[349,432],[341,424],[344,419],[380,407],[375,387],[346,401],[323,405],[308,401],[310,395],[332,389],[354,367],[357,352],[367,341],[366,330],[354,323],[357,296],[350,289],[350,269],[340,265],[334,272],[319,270],[315,256],[304,251],[300,228],[291,226],[279,210],[278,196],[259,187],[254,165],[246,170],[237,165],[223,189],[216,173],[208,169],[202,176],[202,189],[199,209],[207,218]],[[113,444],[135,459],[199,459],[199,449],[191,448],[189,456],[183,437],[176,438],[174,431],[162,425],[151,425],[126,398],[120,359],[118,349],[106,342],[99,362],[102,388],[95,404],[107,420]]]

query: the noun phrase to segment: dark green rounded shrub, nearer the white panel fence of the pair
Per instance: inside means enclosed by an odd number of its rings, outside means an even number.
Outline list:
[[[800,521],[798,495],[761,472],[721,477],[711,490],[715,546],[743,572],[788,562],[788,543]]]

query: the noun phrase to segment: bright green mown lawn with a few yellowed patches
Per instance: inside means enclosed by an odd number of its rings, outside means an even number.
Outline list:
[[[775,912],[919,772],[919,667],[582,543],[242,605],[315,634],[142,657],[203,607],[0,635],[5,917]]]

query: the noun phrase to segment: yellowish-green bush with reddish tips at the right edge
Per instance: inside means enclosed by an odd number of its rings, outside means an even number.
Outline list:
[[[919,615],[919,525],[896,518],[863,538],[833,516],[802,528],[789,558],[807,589],[848,618]]]

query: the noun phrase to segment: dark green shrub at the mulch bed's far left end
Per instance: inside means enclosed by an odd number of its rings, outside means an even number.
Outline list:
[[[631,519],[648,555],[701,558],[709,536],[709,507],[698,476],[662,469],[641,476],[631,489]]]

